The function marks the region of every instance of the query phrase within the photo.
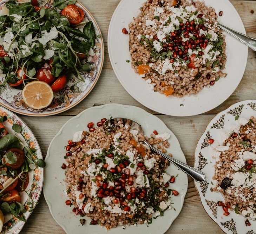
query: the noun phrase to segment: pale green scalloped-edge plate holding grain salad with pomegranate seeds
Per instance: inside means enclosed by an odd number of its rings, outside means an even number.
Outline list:
[[[171,226],[171,223],[176,219],[182,209],[188,187],[187,175],[174,165],[169,166],[166,171],[174,175],[179,174],[175,183],[171,184],[171,188],[175,188],[179,192],[178,196],[172,196],[172,202],[174,202],[173,207],[176,211],[173,209],[167,210],[164,216],[153,219],[152,224],[150,224],[148,228],[143,224],[138,225],[137,227],[126,227],[126,230],[123,230],[122,227],[119,226],[107,231],[106,228],[101,228],[99,225],[89,225],[90,219],[88,218],[86,218],[85,225],[81,226],[79,222],[80,217],[76,216],[71,208],[65,205],[65,201],[68,197],[64,193],[64,190],[66,190],[65,182],[63,182],[65,179],[64,170],[60,168],[64,162],[64,146],[67,144],[67,141],[72,138],[75,132],[87,129],[88,122],[97,122],[102,118],[110,118],[110,116],[133,119],[142,125],[145,135],[150,135],[155,129],[159,134],[169,132],[171,138],[169,139],[170,147],[168,153],[172,153],[175,159],[186,162],[176,136],[156,116],[149,114],[138,107],[119,104],[107,104],[89,108],[67,121],[67,123],[60,129],[59,133],[53,138],[48,148],[45,167],[46,182],[44,186],[44,196],[51,214],[68,234],[85,232],[93,234],[119,234],[120,232],[141,234],[145,230],[151,234],[163,234]]]

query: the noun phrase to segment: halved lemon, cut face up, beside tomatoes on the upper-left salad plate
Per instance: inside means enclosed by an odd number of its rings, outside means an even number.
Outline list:
[[[53,91],[45,82],[32,81],[22,90],[22,98],[29,107],[38,110],[51,104]]]

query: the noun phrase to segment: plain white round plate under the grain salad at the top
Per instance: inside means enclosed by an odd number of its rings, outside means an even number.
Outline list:
[[[202,1],[202,0],[200,0]],[[210,88],[204,88],[197,95],[176,98],[166,97],[153,92],[144,79],[141,79],[131,67],[129,52],[129,35],[122,33],[122,28],[129,29],[128,25],[133,17],[139,14],[139,8],[145,0],[122,0],[112,16],[109,26],[108,48],[114,72],[126,91],[138,102],[153,111],[173,115],[197,115],[217,107],[235,91],[244,74],[247,63],[248,48],[231,35],[226,35],[227,42],[227,73],[225,79],[220,79]],[[236,9],[228,0],[205,0],[206,6],[212,6],[216,12],[223,11],[218,17],[220,22],[238,32],[245,33],[245,29]],[[180,104],[184,106],[180,106]]]

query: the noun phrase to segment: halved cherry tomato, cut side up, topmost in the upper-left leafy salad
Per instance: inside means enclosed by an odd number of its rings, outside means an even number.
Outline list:
[[[66,16],[71,24],[79,24],[84,19],[84,11],[74,4],[67,5],[61,15]]]

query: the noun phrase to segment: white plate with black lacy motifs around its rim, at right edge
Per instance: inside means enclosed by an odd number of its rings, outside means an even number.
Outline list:
[[[247,120],[251,116],[256,116],[256,101],[247,100],[238,102],[217,114],[211,120],[197,144],[195,154],[195,168],[206,174],[207,182],[195,182],[195,185],[204,209],[225,233],[255,234],[256,221],[249,220],[251,226],[246,227],[246,218],[236,214],[235,211],[229,211],[230,215],[224,216],[222,207],[217,205],[217,202],[224,201],[224,198],[221,193],[212,192],[215,159],[212,158],[214,149],[207,140],[214,139],[216,142],[222,142],[221,133],[229,130],[231,126],[237,125],[238,116]]]

